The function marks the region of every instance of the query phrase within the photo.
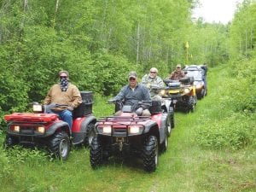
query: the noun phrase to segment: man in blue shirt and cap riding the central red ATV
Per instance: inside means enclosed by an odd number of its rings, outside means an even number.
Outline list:
[[[151,101],[148,89],[143,84],[137,84],[137,73],[131,72],[128,76],[129,84],[125,85],[113,100],[123,101],[125,105],[134,105],[136,102]],[[150,116],[148,108],[143,108],[143,116]]]

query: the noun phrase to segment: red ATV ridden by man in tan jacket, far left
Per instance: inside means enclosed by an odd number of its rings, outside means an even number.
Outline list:
[[[70,131],[67,122],[59,119],[55,113],[47,113],[50,108],[60,106],[50,104],[42,106],[33,103],[34,113],[12,113],[4,116],[8,122],[5,146],[46,147],[50,154],[61,160],[67,160],[71,143],[90,145],[96,135],[96,118],[92,115],[92,92],[81,91],[83,102],[73,111],[73,126]]]

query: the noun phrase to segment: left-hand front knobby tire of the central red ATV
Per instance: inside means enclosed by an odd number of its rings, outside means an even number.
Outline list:
[[[90,166],[93,169],[102,165],[102,143],[99,137],[93,137],[90,143]]]

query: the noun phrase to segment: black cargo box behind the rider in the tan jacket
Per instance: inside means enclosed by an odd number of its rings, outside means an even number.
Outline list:
[[[83,117],[92,113],[93,94],[91,91],[80,91],[82,96],[82,103],[78,108],[75,108],[73,117]]]

